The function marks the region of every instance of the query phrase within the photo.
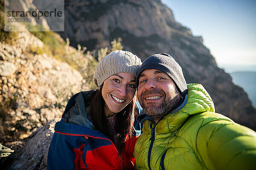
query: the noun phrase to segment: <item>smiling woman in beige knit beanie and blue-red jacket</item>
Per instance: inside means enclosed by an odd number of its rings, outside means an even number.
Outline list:
[[[73,95],[55,124],[47,169],[134,169],[136,72],[140,58],[128,51],[105,56],[94,73],[97,90]],[[100,162],[100,163],[99,163]]]

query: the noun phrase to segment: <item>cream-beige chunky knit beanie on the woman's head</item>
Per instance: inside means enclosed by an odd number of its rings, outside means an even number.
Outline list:
[[[95,69],[93,81],[96,86],[119,72],[127,72],[136,76],[141,65],[140,58],[128,51],[117,50],[106,55]]]

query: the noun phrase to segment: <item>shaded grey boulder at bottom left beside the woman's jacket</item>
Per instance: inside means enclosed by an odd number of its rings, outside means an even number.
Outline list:
[[[47,154],[56,121],[49,121],[26,138],[24,147],[13,154],[11,170],[47,170]]]

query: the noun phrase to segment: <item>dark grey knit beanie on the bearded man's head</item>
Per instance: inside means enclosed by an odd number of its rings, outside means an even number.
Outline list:
[[[159,53],[151,55],[148,57],[140,66],[139,71],[136,76],[136,87],[139,85],[140,74],[145,69],[158,69],[167,75],[169,75],[172,80],[177,85],[178,89],[181,92],[181,95],[185,96],[187,93],[186,80],[183,76],[182,69],[180,65],[172,58],[171,55],[166,53]]]

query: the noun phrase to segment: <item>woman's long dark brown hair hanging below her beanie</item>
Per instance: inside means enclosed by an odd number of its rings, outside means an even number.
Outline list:
[[[103,84],[102,84],[103,86]],[[131,138],[132,135],[132,124],[134,120],[134,109],[135,114],[138,114],[137,107],[135,108],[135,98],[120,112],[116,113],[115,130],[117,140],[113,140],[114,136],[111,135],[107,124],[107,118],[104,112],[105,101],[102,97],[102,86],[99,90],[96,90],[92,94],[91,102],[91,113],[92,123],[97,130],[106,135],[115,144],[119,155],[125,154],[125,140]]]

